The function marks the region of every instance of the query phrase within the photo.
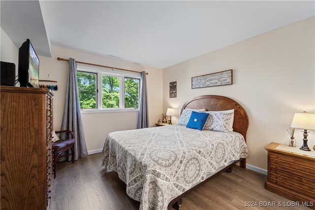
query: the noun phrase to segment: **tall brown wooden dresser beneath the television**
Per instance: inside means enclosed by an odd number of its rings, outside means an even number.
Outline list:
[[[52,96],[48,89],[0,87],[1,210],[49,209]]]

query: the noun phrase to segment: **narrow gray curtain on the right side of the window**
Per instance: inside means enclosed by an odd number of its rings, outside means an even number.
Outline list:
[[[146,72],[141,72],[140,101],[137,129],[149,127],[148,95]]]

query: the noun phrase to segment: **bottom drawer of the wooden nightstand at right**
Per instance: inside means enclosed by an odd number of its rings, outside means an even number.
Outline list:
[[[277,176],[275,176],[277,177]],[[309,197],[312,197],[313,199],[315,199],[315,189],[313,188],[313,190],[309,190],[306,189],[305,185],[303,185],[303,188],[301,187],[302,183],[298,183],[298,181],[293,181],[293,180],[287,180],[284,179],[284,177],[278,176],[278,179],[274,178],[273,176],[270,177],[270,182],[278,184],[280,186],[283,186],[285,188],[288,188],[290,190],[294,190],[296,192],[302,193],[304,195],[308,195]]]

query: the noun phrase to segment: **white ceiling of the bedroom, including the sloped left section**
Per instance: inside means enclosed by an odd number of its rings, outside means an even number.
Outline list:
[[[315,15],[315,1],[1,0],[1,28],[36,53],[57,45],[165,68]]]

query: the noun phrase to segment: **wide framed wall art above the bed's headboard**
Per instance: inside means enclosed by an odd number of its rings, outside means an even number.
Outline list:
[[[220,71],[216,73],[191,77],[191,89],[207,88],[222,85],[232,85],[233,74],[232,69]]]

